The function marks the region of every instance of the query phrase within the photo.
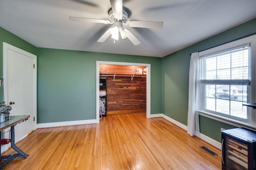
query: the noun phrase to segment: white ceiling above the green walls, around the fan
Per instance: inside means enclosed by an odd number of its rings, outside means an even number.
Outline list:
[[[128,21],[163,21],[163,29],[128,28],[141,42],[97,40],[114,25],[70,21],[108,19],[109,0],[0,0],[0,27],[36,47],[164,57],[256,18],[256,0],[123,0]]]

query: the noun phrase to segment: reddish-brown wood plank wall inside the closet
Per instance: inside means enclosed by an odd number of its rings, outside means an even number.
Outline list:
[[[107,114],[146,112],[146,75],[136,74],[137,68],[146,66],[100,64],[100,76],[107,77]]]

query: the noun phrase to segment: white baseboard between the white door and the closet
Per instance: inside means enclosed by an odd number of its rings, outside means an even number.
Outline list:
[[[37,128],[84,125],[84,124],[93,124],[93,123],[96,123],[96,119],[78,120],[78,121],[62,121],[62,122],[53,122],[53,123],[38,123]]]

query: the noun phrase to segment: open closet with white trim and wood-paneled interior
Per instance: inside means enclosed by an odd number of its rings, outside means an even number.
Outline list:
[[[101,115],[146,112],[150,118],[150,64],[96,62],[96,122]]]

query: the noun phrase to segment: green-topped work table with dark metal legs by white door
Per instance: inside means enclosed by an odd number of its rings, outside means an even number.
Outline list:
[[[18,148],[15,145],[15,138],[14,138],[14,126],[21,122],[24,121],[26,119],[28,119],[28,117],[30,117],[30,115],[21,115],[21,116],[10,116],[10,119],[8,121],[4,121],[2,123],[0,123],[0,131],[3,131],[4,129],[11,127],[11,139],[10,139],[10,143],[11,143],[11,147],[12,149],[14,149],[17,154],[10,154],[10,155],[1,155],[1,149],[0,149],[0,160],[2,159],[6,159],[4,160],[4,162],[2,162],[0,164],[0,170],[2,170],[4,167],[6,167],[8,164],[10,164],[10,162],[12,162],[12,160],[14,160],[17,157],[22,157],[24,159],[26,159],[28,157],[27,154],[25,154],[20,148]]]

